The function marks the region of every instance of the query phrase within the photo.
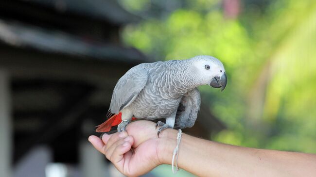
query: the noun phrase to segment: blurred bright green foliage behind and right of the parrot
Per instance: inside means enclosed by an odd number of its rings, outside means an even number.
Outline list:
[[[200,88],[228,127],[212,139],[316,153],[316,1],[248,5],[237,19],[225,18],[219,0],[185,2],[127,26],[123,39],[157,60],[203,54],[224,63],[227,89]]]

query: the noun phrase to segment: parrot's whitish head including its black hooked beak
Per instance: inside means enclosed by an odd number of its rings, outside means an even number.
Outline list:
[[[193,75],[200,85],[210,85],[214,88],[221,88],[223,91],[227,84],[227,76],[222,62],[217,58],[201,55],[191,58],[193,61]]]

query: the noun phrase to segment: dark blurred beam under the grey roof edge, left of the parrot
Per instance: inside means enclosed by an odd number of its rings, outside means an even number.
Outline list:
[[[115,62],[44,53],[0,45],[0,66],[18,79],[73,80],[114,88],[117,80],[138,63]]]

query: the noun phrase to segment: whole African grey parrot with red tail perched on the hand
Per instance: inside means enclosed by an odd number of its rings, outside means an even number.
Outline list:
[[[167,128],[192,127],[200,109],[199,85],[224,90],[227,76],[216,58],[202,55],[188,60],[143,63],[132,67],[117,82],[107,120],[97,132],[110,131],[118,125],[123,131],[133,119],[158,121],[159,133]]]

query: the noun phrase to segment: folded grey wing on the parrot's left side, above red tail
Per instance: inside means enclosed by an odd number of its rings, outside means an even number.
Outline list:
[[[113,90],[109,117],[111,117],[112,113],[118,114],[124,107],[132,103],[145,87],[147,79],[147,70],[145,70],[141,64],[128,70],[117,82]]]

